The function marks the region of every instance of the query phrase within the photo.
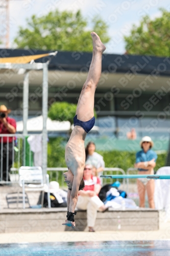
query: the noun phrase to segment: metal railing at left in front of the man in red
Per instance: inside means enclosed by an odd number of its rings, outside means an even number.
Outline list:
[[[40,134],[0,134],[0,184],[18,183],[20,166],[41,166],[42,152],[33,154],[29,136]]]

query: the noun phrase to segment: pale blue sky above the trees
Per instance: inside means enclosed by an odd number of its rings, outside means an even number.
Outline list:
[[[26,18],[36,14],[41,16],[55,8],[59,10],[81,9],[86,17],[100,15],[109,25],[110,42],[108,53],[123,54],[127,35],[132,24],[139,24],[145,14],[152,18],[160,16],[159,8],[170,11],[169,0],[11,0],[10,1],[10,47],[14,48],[13,39],[19,26],[26,26]]]

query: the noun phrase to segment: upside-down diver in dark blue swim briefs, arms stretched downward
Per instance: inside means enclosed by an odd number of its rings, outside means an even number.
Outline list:
[[[76,116],[74,117],[74,130],[65,148],[65,161],[68,172],[64,173],[64,181],[68,186],[67,193],[67,220],[62,225],[74,228],[74,216],[78,201],[79,190],[84,188],[83,170],[85,166],[84,140],[87,133],[95,123],[94,118],[94,93],[102,72],[102,54],[106,47],[100,37],[92,32],[93,54],[87,79],[82,88]]]

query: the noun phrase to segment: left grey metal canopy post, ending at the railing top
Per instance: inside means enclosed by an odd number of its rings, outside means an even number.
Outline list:
[[[29,106],[29,72],[27,71],[23,79],[23,134],[27,134]]]

